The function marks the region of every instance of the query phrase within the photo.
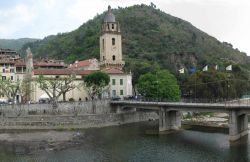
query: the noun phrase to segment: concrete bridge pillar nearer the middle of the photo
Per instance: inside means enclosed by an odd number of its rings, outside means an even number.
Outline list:
[[[159,131],[178,130],[181,127],[181,115],[179,111],[159,110]]]

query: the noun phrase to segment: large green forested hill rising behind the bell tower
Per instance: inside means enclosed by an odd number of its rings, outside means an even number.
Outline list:
[[[235,63],[246,66],[249,58],[230,43],[219,42],[192,24],[146,5],[113,9],[122,31],[123,55],[127,69],[134,64],[152,64],[176,72],[181,67],[202,67]],[[28,43],[36,57],[74,60],[99,58],[100,27],[106,12],[69,33],[48,36]]]

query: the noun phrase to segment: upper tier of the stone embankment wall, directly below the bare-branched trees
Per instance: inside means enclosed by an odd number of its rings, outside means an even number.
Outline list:
[[[95,114],[107,114],[111,112],[109,100],[96,101],[95,106]],[[16,117],[28,115],[52,115],[55,113],[59,115],[86,115],[93,114],[92,108],[92,101],[59,103],[56,110],[53,110],[51,104],[15,105],[14,108],[12,108],[11,105],[1,105],[0,116]]]

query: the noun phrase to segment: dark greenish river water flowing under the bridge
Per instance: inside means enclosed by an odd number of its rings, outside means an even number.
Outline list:
[[[151,121],[81,130],[80,133],[82,137],[78,143],[60,150],[43,150],[41,146],[41,150],[31,152],[28,146],[2,142],[0,161],[250,161],[249,138],[246,136],[240,141],[230,143],[228,130],[222,128],[185,126],[177,132],[159,134],[157,121]]]

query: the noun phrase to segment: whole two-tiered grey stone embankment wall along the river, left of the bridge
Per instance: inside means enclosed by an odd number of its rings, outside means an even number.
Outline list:
[[[155,112],[112,113],[108,100],[96,102],[60,103],[56,114],[49,104],[30,104],[0,107],[0,129],[76,129],[104,127],[155,120]]]

